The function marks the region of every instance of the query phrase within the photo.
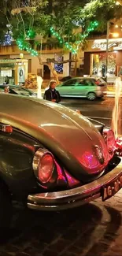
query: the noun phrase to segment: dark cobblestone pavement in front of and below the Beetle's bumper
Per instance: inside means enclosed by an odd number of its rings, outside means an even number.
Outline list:
[[[13,210],[9,240],[0,256],[121,256],[122,191],[61,213]]]

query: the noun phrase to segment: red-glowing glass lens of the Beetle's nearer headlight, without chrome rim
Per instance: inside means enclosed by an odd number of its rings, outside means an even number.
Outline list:
[[[42,183],[50,181],[54,171],[54,158],[51,154],[45,154],[39,162],[39,180]]]

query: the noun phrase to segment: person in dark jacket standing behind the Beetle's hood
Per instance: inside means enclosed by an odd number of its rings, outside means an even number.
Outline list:
[[[55,89],[55,87],[56,87],[56,81],[51,80],[49,89],[45,91],[43,99],[46,99],[47,101],[50,101],[50,102],[56,102],[56,103],[61,102],[61,96],[59,92]]]

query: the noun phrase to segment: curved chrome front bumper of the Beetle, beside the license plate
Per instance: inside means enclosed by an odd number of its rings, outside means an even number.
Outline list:
[[[28,208],[35,210],[65,210],[81,206],[102,196],[102,187],[117,177],[122,176],[122,158],[120,163],[109,173],[90,184],[67,191],[46,192],[28,195]]]

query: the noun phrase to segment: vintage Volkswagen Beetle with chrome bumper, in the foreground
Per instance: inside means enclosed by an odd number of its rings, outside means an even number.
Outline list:
[[[35,210],[64,210],[122,185],[114,135],[53,102],[0,95],[0,227],[13,200]]]

